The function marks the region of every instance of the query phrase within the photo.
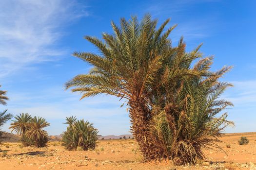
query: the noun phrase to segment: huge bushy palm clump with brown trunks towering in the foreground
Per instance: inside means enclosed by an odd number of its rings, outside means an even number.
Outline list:
[[[186,52],[182,38],[173,47],[168,37],[176,25],[166,29],[169,21],[157,27],[150,15],[141,22],[122,18],[120,28],[111,22],[114,34],[103,33],[104,41],[85,36],[100,53],[74,53],[94,67],[66,88],[82,93],[81,99],[98,94],[125,99],[145,161],[197,163],[204,158],[203,149],[218,147],[222,130],[233,125],[227,113],[217,116],[232,105],[219,99],[232,85],[218,80],[231,67],[211,71],[213,57],[203,58],[201,45]]]

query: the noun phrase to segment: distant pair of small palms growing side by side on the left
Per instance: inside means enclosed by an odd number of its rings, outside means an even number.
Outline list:
[[[14,118],[9,129],[21,136],[23,146],[47,146],[48,133],[43,128],[50,126],[50,123],[41,117],[32,118],[28,113],[21,113]]]

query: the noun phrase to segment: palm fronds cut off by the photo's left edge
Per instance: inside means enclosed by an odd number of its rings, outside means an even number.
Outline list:
[[[1,87],[1,85],[0,85],[0,87]],[[3,105],[7,104],[6,101],[9,100],[9,98],[5,96],[6,92],[7,91],[0,90],[0,104],[3,104]],[[10,120],[13,117],[12,114],[6,113],[6,112],[7,112],[7,110],[0,112],[0,128],[3,126],[4,123],[6,123],[6,121]],[[3,135],[3,132],[0,131],[0,145],[2,144],[1,140],[4,138],[2,135]]]

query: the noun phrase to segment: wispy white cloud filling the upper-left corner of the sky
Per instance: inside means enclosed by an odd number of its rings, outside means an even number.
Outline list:
[[[89,13],[67,0],[2,0],[0,3],[0,76],[32,63],[53,60],[61,26]]]

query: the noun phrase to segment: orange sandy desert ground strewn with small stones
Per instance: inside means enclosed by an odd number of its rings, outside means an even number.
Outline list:
[[[239,145],[241,136],[246,136],[249,144]],[[220,149],[206,150],[208,162],[194,166],[140,163],[138,146],[132,139],[100,140],[95,151],[65,151],[60,142],[49,142],[48,148],[42,149],[5,143],[0,170],[256,170],[256,133],[228,134],[221,140],[219,145],[228,155]]]

